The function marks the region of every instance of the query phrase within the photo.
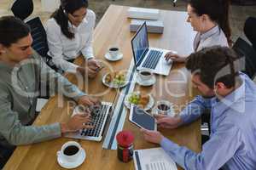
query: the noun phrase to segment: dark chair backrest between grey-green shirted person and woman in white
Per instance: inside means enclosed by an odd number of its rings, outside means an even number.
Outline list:
[[[39,17],[35,17],[31,20],[27,20],[26,24],[31,27],[31,35],[33,38],[32,48],[38,52],[43,58],[44,61],[47,63],[49,60],[49,56],[47,52],[49,50],[46,32],[44,30],[44,26],[39,19]]]

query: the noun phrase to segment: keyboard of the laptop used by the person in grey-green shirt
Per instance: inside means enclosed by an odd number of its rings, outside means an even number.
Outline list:
[[[80,131],[80,135],[82,136],[90,136],[90,137],[99,137],[102,133],[103,125],[107,120],[109,107],[111,105],[102,105],[101,108],[98,108],[91,112],[91,123],[94,128],[85,129],[83,128]]]

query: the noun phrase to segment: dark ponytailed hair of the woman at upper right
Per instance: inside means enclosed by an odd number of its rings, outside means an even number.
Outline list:
[[[189,0],[189,5],[198,16],[207,14],[212,21],[217,22],[231,46],[230,0]]]

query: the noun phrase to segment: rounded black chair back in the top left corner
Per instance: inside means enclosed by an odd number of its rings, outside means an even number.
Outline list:
[[[25,20],[30,14],[32,14],[34,9],[32,0],[15,0],[11,10],[13,14],[20,18],[20,20]]]

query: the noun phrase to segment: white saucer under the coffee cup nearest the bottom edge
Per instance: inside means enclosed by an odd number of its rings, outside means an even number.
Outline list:
[[[60,164],[61,167],[64,167],[64,168],[67,168],[67,169],[72,169],[72,168],[75,168],[75,167],[79,167],[84,162],[85,158],[86,158],[86,154],[85,154],[84,149],[82,149],[82,156],[80,156],[77,161],[74,161],[74,162],[65,161],[61,157],[61,155],[57,156],[57,161],[58,161],[58,163]]]

